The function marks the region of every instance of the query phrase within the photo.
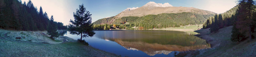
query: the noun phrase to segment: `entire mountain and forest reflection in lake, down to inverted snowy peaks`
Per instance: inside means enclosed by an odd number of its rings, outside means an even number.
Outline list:
[[[122,30],[95,31],[93,37],[113,41],[127,50],[142,51],[150,56],[210,48],[204,39],[182,31]],[[90,44],[90,43],[89,43]]]

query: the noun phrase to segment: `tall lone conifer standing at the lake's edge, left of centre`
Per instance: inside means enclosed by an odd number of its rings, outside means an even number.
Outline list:
[[[84,4],[79,5],[79,9],[76,9],[73,15],[75,20],[70,19],[72,25],[68,26],[70,34],[81,34],[81,40],[82,37],[92,37],[95,34],[92,28],[92,14],[84,8]]]

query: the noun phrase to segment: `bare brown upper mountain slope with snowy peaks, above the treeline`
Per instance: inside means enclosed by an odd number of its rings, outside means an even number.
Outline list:
[[[200,14],[215,14],[210,11],[196,9],[193,7],[173,7],[169,3],[155,3],[149,2],[143,5],[140,8],[123,11],[120,14],[117,14],[117,18],[126,17],[126,16],[144,16],[148,14],[162,14],[162,13],[182,13],[182,12],[195,12]]]

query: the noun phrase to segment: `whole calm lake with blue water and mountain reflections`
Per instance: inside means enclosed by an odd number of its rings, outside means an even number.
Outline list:
[[[173,57],[179,51],[210,48],[195,33],[162,30],[95,31],[93,37],[83,38],[90,46],[117,55],[130,57]],[[62,33],[73,39],[81,36]]]

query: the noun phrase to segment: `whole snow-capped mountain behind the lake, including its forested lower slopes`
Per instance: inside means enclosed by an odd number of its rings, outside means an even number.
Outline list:
[[[94,25],[125,24],[152,28],[179,27],[185,25],[203,24],[210,16],[216,13],[193,7],[173,7],[169,3],[149,2],[142,7],[127,8],[116,16],[95,21]],[[129,25],[130,24],[130,25]]]

